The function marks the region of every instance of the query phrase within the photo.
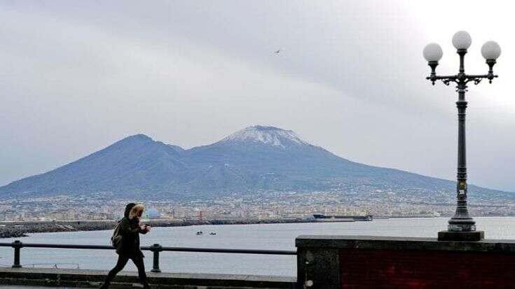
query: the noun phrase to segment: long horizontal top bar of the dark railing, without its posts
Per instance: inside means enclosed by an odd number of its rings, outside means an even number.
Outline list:
[[[13,247],[12,243],[0,243],[0,246]],[[113,246],[102,245],[76,245],[76,244],[36,244],[22,243],[21,247],[26,248],[60,248],[60,249],[93,249],[93,250],[114,250]],[[156,251],[152,246],[143,246],[142,250]],[[234,253],[234,254],[261,254],[261,255],[297,255],[296,251],[282,250],[249,250],[249,249],[225,249],[225,248],[187,248],[187,247],[160,247],[157,251],[170,252],[198,252],[198,253]]]

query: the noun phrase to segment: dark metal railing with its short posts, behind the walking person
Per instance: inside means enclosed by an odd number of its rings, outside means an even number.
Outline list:
[[[22,243],[16,240],[12,243],[0,243],[0,247],[12,247],[14,249],[14,262],[11,267],[21,268],[20,252],[21,248],[58,248],[58,249],[90,249],[90,250],[115,250],[113,246],[100,245],[74,245],[74,244],[36,244]],[[151,272],[161,272],[159,269],[160,252],[197,252],[197,253],[228,253],[228,254],[261,254],[261,255],[297,255],[296,251],[283,250],[249,250],[249,249],[222,249],[222,248],[188,248],[188,247],[163,247],[160,244],[152,246],[142,246],[143,251],[153,253],[153,266]]]

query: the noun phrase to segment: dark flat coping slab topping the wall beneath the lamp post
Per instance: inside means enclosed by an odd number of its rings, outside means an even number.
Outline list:
[[[484,253],[515,253],[515,240],[438,241],[437,238],[320,236],[301,235],[295,244],[301,248],[349,248],[423,251],[466,251]]]

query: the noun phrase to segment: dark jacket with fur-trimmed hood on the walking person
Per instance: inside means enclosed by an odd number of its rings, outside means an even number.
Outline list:
[[[147,232],[139,227],[137,212],[144,210],[142,204],[130,203],[125,207],[124,217],[120,220],[120,234],[122,236],[120,245],[116,248],[118,255],[126,255],[129,258],[144,258],[141,248],[139,248],[139,234]]]

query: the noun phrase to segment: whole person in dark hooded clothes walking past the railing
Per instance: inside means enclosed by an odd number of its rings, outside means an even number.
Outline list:
[[[130,203],[125,206],[124,217],[120,220],[120,234],[122,236],[120,244],[116,248],[118,253],[118,262],[111,269],[107,278],[100,288],[109,288],[114,276],[120,272],[127,262],[132,260],[138,269],[139,282],[143,284],[145,289],[150,288],[149,281],[146,280],[145,265],[143,262],[142,249],[139,248],[139,234],[150,232],[151,227],[139,224],[145,207],[142,204]]]

